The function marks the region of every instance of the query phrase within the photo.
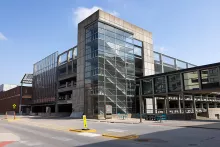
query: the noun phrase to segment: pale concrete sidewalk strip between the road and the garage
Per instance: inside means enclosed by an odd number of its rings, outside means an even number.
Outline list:
[[[20,120],[16,122],[26,122],[26,123],[34,123],[39,125],[52,125],[58,126],[62,128],[79,128],[83,127],[82,119],[69,119],[69,118],[39,118],[35,116],[18,116]],[[97,119],[87,119],[88,122],[92,123],[122,123],[122,124],[140,124],[139,119],[126,119],[126,120],[118,120],[118,119],[109,119],[109,120],[97,120]],[[143,119],[141,123],[142,125],[154,125],[154,126],[170,126],[170,127],[193,127],[193,128],[204,128],[204,129],[219,129],[220,130],[220,121],[200,121],[200,120],[192,120],[192,121],[181,121],[181,120],[163,120],[162,123],[155,121],[146,121]]]

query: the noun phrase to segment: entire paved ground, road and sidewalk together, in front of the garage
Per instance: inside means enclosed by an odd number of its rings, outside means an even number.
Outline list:
[[[149,146],[149,147],[187,147],[187,146],[218,146],[220,131],[185,128],[182,125],[197,123],[213,125],[210,122],[166,121],[164,123],[145,122],[142,124],[103,123],[88,121],[88,126],[97,130],[96,133],[69,132],[68,128],[82,128],[81,120],[66,118],[36,119],[21,118],[18,121],[0,121],[1,133],[10,133],[11,138],[18,136],[19,140],[9,144],[9,147],[46,146]],[[215,123],[216,124],[216,123]],[[138,134],[138,140],[118,140],[102,137],[102,133]],[[9,136],[10,137],[10,136]],[[1,138],[1,136],[0,136]]]

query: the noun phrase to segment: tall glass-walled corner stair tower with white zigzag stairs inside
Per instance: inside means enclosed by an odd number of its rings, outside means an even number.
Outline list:
[[[104,115],[130,113],[135,89],[133,35],[96,22],[86,29],[86,89],[92,89],[90,106]],[[94,92],[95,91],[95,92]]]

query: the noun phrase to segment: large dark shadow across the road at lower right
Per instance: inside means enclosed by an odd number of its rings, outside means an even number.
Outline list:
[[[204,128],[211,128],[212,125],[220,126],[220,123],[206,124]],[[199,125],[200,126],[200,125]],[[109,140],[99,143],[88,145],[81,145],[81,147],[113,147],[113,146],[149,146],[149,147],[207,147],[219,146],[220,131],[208,130],[201,128],[187,128],[187,127],[168,127],[168,126],[155,126],[160,127],[160,131],[153,131],[147,134],[139,135],[138,139],[134,140]],[[202,125],[201,125],[202,127]]]

